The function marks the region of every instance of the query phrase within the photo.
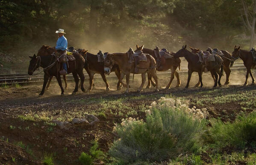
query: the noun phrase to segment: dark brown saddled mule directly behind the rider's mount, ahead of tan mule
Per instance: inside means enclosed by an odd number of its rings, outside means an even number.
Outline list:
[[[91,53],[85,51],[84,49],[78,49],[78,51],[82,55],[82,57],[84,57],[84,59],[85,59],[84,68],[85,68],[86,72],[88,73],[89,79],[90,79],[90,81],[89,81],[90,86],[88,88],[88,91],[92,90],[94,74],[101,75],[103,81],[106,83],[106,91],[109,91],[109,84],[107,83],[107,80],[106,80],[104,64],[100,64],[98,62],[97,55],[91,54]],[[121,72],[120,72],[120,69],[118,68],[118,65],[114,65],[113,68],[111,69],[111,71],[115,71],[115,74],[117,75],[118,80],[119,80]],[[121,83],[118,81],[118,85],[117,85],[118,90],[121,88],[120,84]]]

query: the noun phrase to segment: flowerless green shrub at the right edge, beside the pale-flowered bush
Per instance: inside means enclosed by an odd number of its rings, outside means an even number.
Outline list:
[[[212,119],[211,123],[206,142],[214,144],[217,148],[256,147],[256,111],[248,115],[241,113],[232,123],[224,123],[219,119]]]

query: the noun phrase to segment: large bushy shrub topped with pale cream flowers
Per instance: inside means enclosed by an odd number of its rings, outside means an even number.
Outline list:
[[[109,149],[111,156],[126,162],[159,162],[198,150],[206,113],[179,99],[162,97],[151,105],[146,122],[129,118],[116,125],[120,139]]]

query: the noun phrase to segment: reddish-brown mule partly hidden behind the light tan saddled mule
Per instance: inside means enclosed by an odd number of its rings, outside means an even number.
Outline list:
[[[154,50],[144,48],[144,45],[141,46],[141,47],[138,47],[138,45],[136,45],[136,48],[137,48],[136,51],[141,50],[141,51],[143,51],[143,53],[150,54],[152,57],[154,57],[155,60],[157,59],[157,57],[155,56]],[[177,59],[168,58],[168,59],[165,59],[165,60],[166,60],[165,65],[163,65],[161,69],[160,69],[160,67],[156,68],[157,71],[168,71],[169,69],[171,69],[171,78],[170,78],[170,81],[169,81],[168,85],[165,88],[166,89],[170,88],[171,83],[174,80],[174,75],[177,78],[176,87],[179,87],[180,86],[179,73],[176,71],[176,69],[178,67],[180,69],[181,60],[179,58],[177,58]],[[150,82],[152,83],[153,86],[155,86],[155,83],[152,81],[152,76],[148,75],[147,77],[148,77],[147,88],[150,88]]]

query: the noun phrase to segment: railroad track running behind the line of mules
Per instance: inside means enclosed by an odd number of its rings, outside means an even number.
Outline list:
[[[231,69],[231,72],[243,72],[245,71],[245,67],[243,63],[235,63]],[[181,65],[181,69],[179,72],[180,75],[186,75],[188,71],[187,65]],[[157,75],[160,76],[170,76],[170,71],[165,72],[157,72]],[[85,80],[89,79],[88,74],[86,71],[84,71]],[[132,74],[131,74],[132,76]],[[135,74],[135,77],[140,76],[140,74]],[[68,74],[67,80],[74,80],[72,74]],[[106,75],[107,79],[116,78],[115,73],[110,73],[109,75]],[[101,78],[100,74],[95,74],[96,79]],[[0,85],[12,85],[12,84],[29,84],[29,83],[40,83],[44,81],[44,74],[38,74],[35,76],[29,76],[28,74],[2,74],[0,75]],[[53,79],[52,81],[56,81],[56,79]]]

